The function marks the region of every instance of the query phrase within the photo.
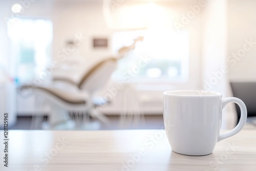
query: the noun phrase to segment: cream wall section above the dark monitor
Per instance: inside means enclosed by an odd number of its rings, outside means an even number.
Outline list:
[[[256,2],[228,1],[228,65],[230,80],[256,81]],[[243,54],[246,40],[254,43]],[[237,59],[232,57],[233,53]]]

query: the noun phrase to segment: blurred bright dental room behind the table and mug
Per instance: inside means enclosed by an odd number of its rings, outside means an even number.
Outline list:
[[[10,129],[163,129],[168,90],[236,96],[253,116],[255,7],[242,0],[0,0],[0,126],[8,113]],[[103,65],[109,59],[114,66]],[[222,129],[238,119],[228,104]]]

